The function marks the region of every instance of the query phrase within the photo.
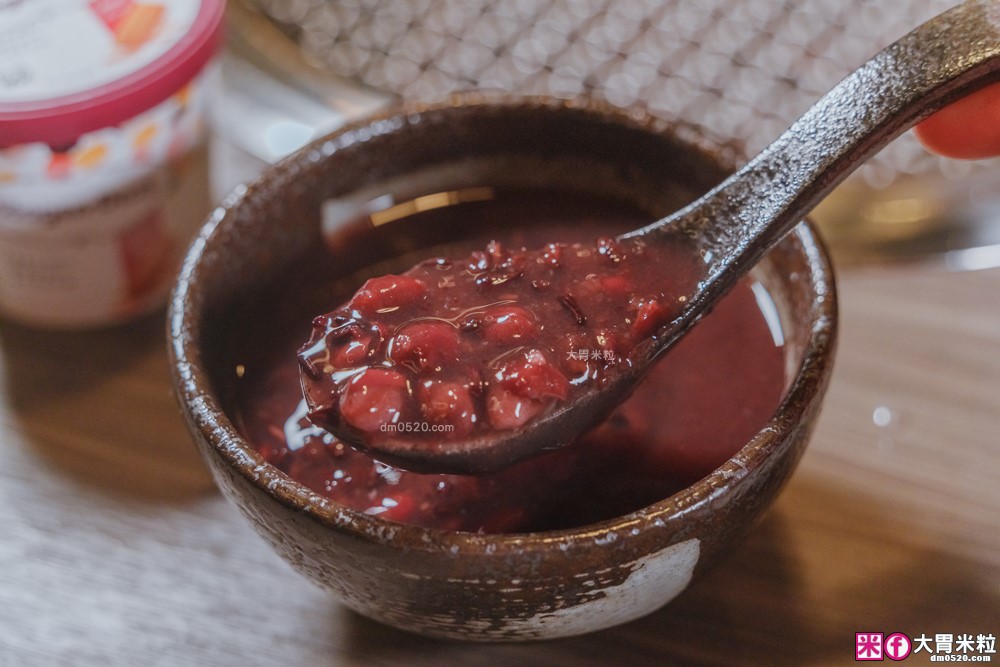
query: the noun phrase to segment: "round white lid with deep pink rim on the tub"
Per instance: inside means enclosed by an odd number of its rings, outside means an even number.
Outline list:
[[[54,147],[159,104],[222,41],[224,0],[0,2],[0,147]]]

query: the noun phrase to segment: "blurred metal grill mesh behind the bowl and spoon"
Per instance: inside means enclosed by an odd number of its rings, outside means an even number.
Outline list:
[[[405,99],[468,89],[600,95],[753,154],[879,48],[952,0],[255,0],[312,61]],[[860,173],[976,166],[912,136]],[[979,167],[981,168],[981,167]]]

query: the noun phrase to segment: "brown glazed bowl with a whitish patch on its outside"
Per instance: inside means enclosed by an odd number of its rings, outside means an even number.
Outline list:
[[[662,215],[730,167],[704,141],[641,112],[464,97],[354,125],[271,168],[201,230],[171,302],[177,394],[222,491],[296,570],[357,612],[414,632],[552,638],[625,623],[665,604],[760,517],[812,431],[833,360],[836,296],[810,225],[755,269],[786,338],[787,394],[770,423],[690,487],[575,529],[486,535],[400,525],[340,506],[265,463],[227,398],[229,341],[246,325],[232,304],[267,293],[316,248],[347,276],[470,231],[357,224],[352,212],[386,193],[405,201],[464,186],[554,184],[626,196]]]

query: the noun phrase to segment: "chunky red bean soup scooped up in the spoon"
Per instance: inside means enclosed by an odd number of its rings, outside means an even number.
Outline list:
[[[309,418],[376,452],[525,426],[631,367],[703,266],[644,239],[491,240],[372,278],[299,352]]]

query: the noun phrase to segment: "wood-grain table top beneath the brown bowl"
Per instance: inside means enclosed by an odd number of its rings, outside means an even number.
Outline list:
[[[195,454],[162,315],[2,323],[0,665],[847,665],[855,632],[1000,635],[1000,270],[840,287],[825,412],[764,522],[665,609],[529,645],[398,632],[292,572]]]

